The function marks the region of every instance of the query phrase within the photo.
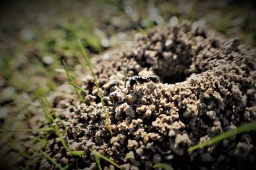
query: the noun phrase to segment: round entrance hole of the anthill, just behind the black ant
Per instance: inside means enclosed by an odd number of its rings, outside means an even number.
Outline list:
[[[139,40],[139,47],[134,51],[135,59],[143,68],[154,71],[163,83],[174,84],[186,81],[191,75],[190,66],[195,52],[192,49],[190,26],[169,29],[154,29]],[[198,36],[198,35],[196,35]],[[203,37],[203,35],[200,35]],[[194,71],[193,71],[194,72]]]

